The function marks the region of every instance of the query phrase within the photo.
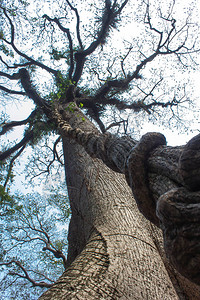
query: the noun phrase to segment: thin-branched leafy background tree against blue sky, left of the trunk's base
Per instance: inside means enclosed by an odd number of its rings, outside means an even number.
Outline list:
[[[65,207],[62,203],[65,199]],[[2,299],[36,299],[64,271],[69,208],[59,191],[15,196],[1,211]],[[5,208],[5,204],[4,207]],[[57,275],[55,275],[57,274]],[[34,289],[30,288],[34,287]]]

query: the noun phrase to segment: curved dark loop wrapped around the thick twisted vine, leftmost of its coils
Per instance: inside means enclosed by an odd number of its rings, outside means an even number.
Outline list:
[[[159,226],[159,220],[156,216],[156,203],[149,189],[147,160],[152,150],[165,144],[164,135],[155,132],[145,134],[130,151],[125,170],[126,180],[132,189],[140,212],[157,226]]]

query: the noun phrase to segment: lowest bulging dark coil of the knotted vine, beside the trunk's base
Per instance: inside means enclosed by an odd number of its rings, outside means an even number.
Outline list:
[[[157,216],[170,262],[183,276],[200,284],[200,192],[177,188],[163,194]]]

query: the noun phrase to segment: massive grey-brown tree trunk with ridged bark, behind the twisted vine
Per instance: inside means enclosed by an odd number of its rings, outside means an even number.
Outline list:
[[[71,125],[97,131],[72,114]],[[68,268],[40,299],[199,299],[168,263],[162,233],[138,211],[124,175],[63,137],[72,218]]]

